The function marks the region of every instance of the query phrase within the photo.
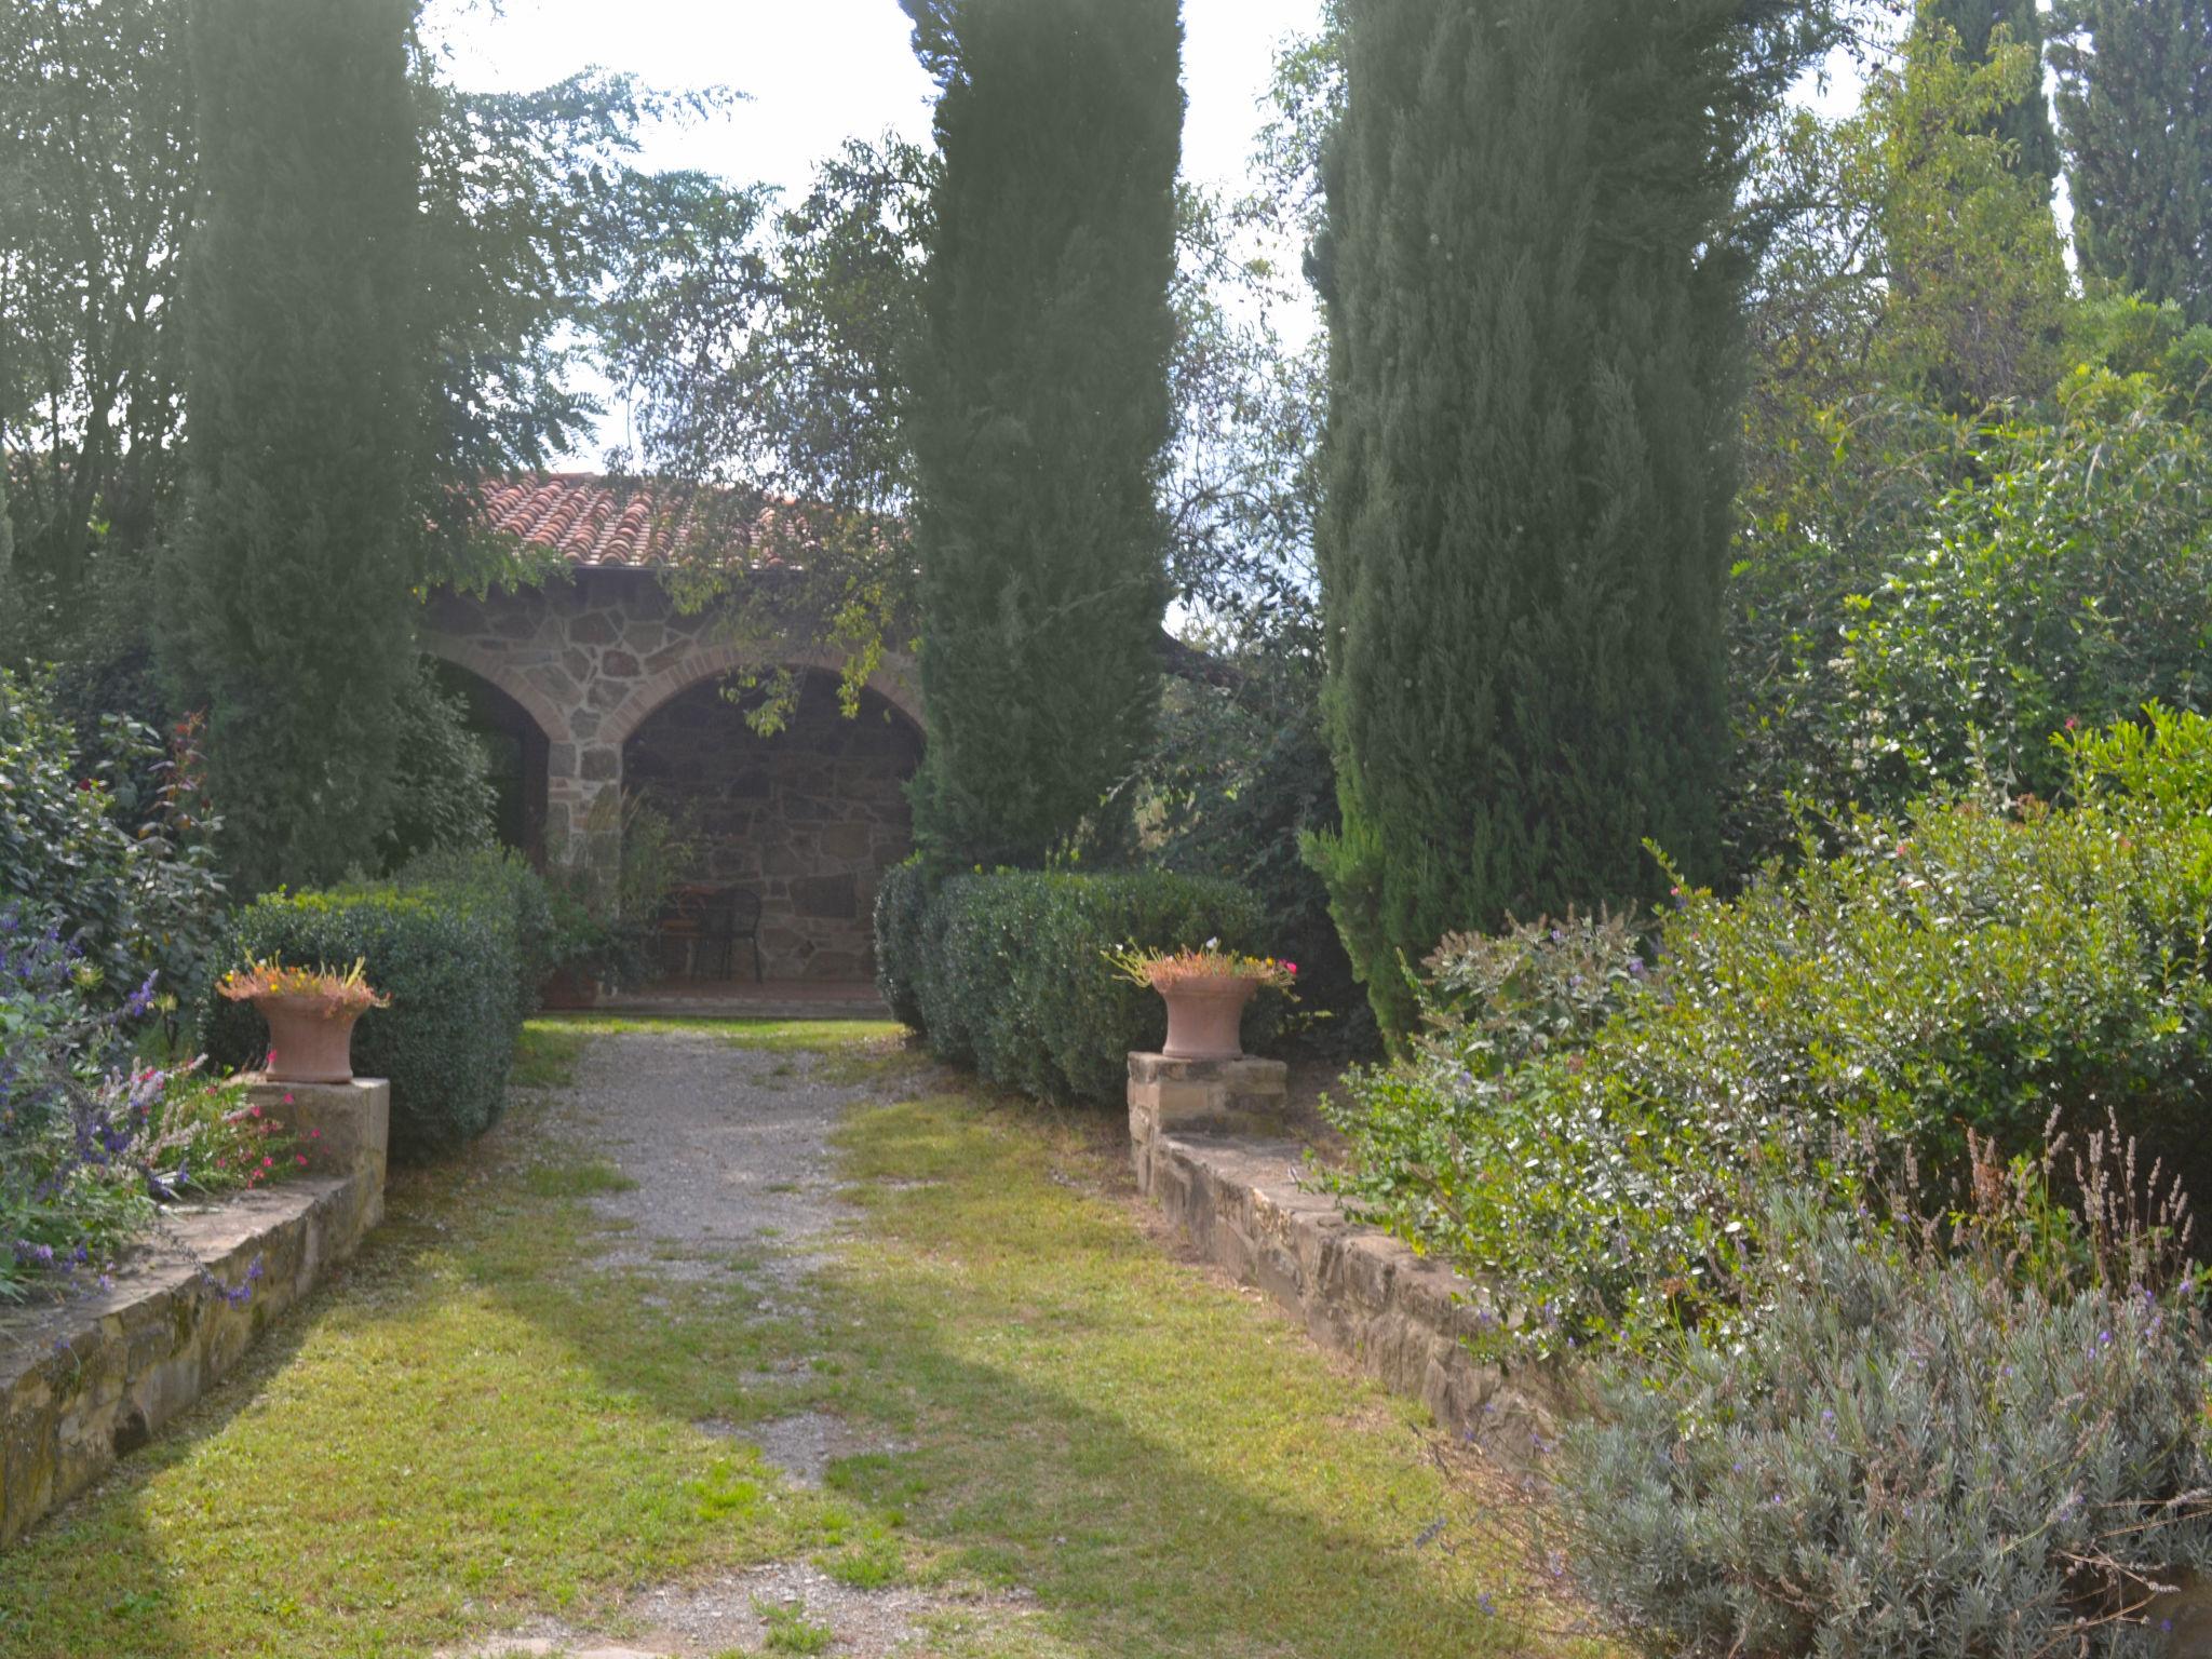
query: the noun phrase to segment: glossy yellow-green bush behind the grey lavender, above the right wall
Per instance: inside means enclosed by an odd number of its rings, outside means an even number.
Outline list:
[[[1334,1108],[1358,1159],[1332,1186],[1493,1279],[1500,1340],[1736,1329],[1767,1177],[1856,1201],[1907,1159],[1962,1168],[1969,1128],[2017,1152],[2053,1115],[2117,1113],[2146,1161],[2212,1190],[2201,816],[2110,792],[2075,812],[1933,803],[1911,830],[1860,818],[1843,852],[1736,900],[1679,902],[1650,971],[1628,971],[1641,989],[1579,1046],[1586,1020],[1562,1029],[1493,973],[1431,993],[1436,1037]],[[1493,1015],[1522,1035],[1502,1044]]]

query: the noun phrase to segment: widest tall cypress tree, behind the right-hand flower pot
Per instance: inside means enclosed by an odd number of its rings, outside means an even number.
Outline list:
[[[1717,852],[1736,192],[1792,0],[1347,0],[1314,274],[1340,836],[1376,1013],[1451,929]]]

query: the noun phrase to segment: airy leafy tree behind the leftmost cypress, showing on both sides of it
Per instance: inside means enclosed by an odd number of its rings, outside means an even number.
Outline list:
[[[177,520],[181,243],[201,184],[186,0],[0,9],[0,447],[18,562],[0,659],[64,681],[148,681],[148,562]],[[635,168],[661,97],[622,75],[465,93],[409,38],[420,126],[427,352],[418,509],[431,566],[504,568],[478,546],[484,473],[546,465],[595,405],[571,369],[633,246],[677,212]],[[498,560],[489,557],[498,553]],[[157,714],[142,699],[137,712]]]

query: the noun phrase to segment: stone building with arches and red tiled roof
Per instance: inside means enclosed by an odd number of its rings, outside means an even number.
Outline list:
[[[858,719],[843,714],[841,659],[818,641],[739,641],[712,613],[684,615],[664,582],[675,520],[595,476],[500,480],[489,526],[551,573],[434,595],[422,648],[451,666],[493,741],[513,845],[606,867],[619,856],[608,807],[639,794],[695,830],[703,883],[759,896],[765,978],[865,980],[876,880],[911,849],[914,666],[889,659]],[[785,668],[801,675],[796,714],[759,737],[723,686]]]

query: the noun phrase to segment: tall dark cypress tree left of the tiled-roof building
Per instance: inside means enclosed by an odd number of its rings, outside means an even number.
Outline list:
[[[367,863],[414,675],[411,0],[192,0],[186,522],[166,659],[246,889]]]

